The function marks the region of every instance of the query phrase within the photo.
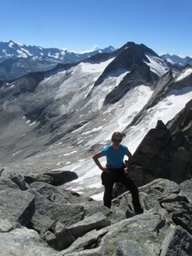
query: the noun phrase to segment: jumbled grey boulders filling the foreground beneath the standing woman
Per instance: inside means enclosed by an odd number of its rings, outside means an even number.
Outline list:
[[[2,255],[192,255],[191,179],[158,178],[140,187],[140,215],[130,192],[113,199],[109,210],[42,181],[27,190],[11,179],[0,183]]]

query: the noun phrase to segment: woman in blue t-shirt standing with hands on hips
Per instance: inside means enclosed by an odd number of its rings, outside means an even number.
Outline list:
[[[112,144],[93,155],[93,160],[102,170],[102,185],[104,185],[103,202],[104,206],[110,208],[113,193],[113,184],[122,183],[126,189],[130,190],[132,196],[132,204],[136,214],[143,213],[143,208],[140,205],[139,194],[136,184],[131,177],[127,176],[131,168],[132,154],[129,149],[121,144],[122,134],[118,131],[112,135]],[[124,157],[128,157],[127,165],[125,166]],[[98,160],[102,156],[106,156],[107,164],[102,166]]]

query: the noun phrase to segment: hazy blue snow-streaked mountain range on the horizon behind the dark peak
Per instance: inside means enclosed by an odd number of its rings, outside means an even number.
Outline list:
[[[58,64],[83,61],[97,54],[109,54],[118,49],[109,46],[86,53],[70,52],[67,49],[26,46],[14,41],[0,42],[0,80],[13,80],[26,73],[47,71]],[[181,58],[177,55],[160,55],[170,67],[182,70],[183,66],[192,65],[192,58]]]

